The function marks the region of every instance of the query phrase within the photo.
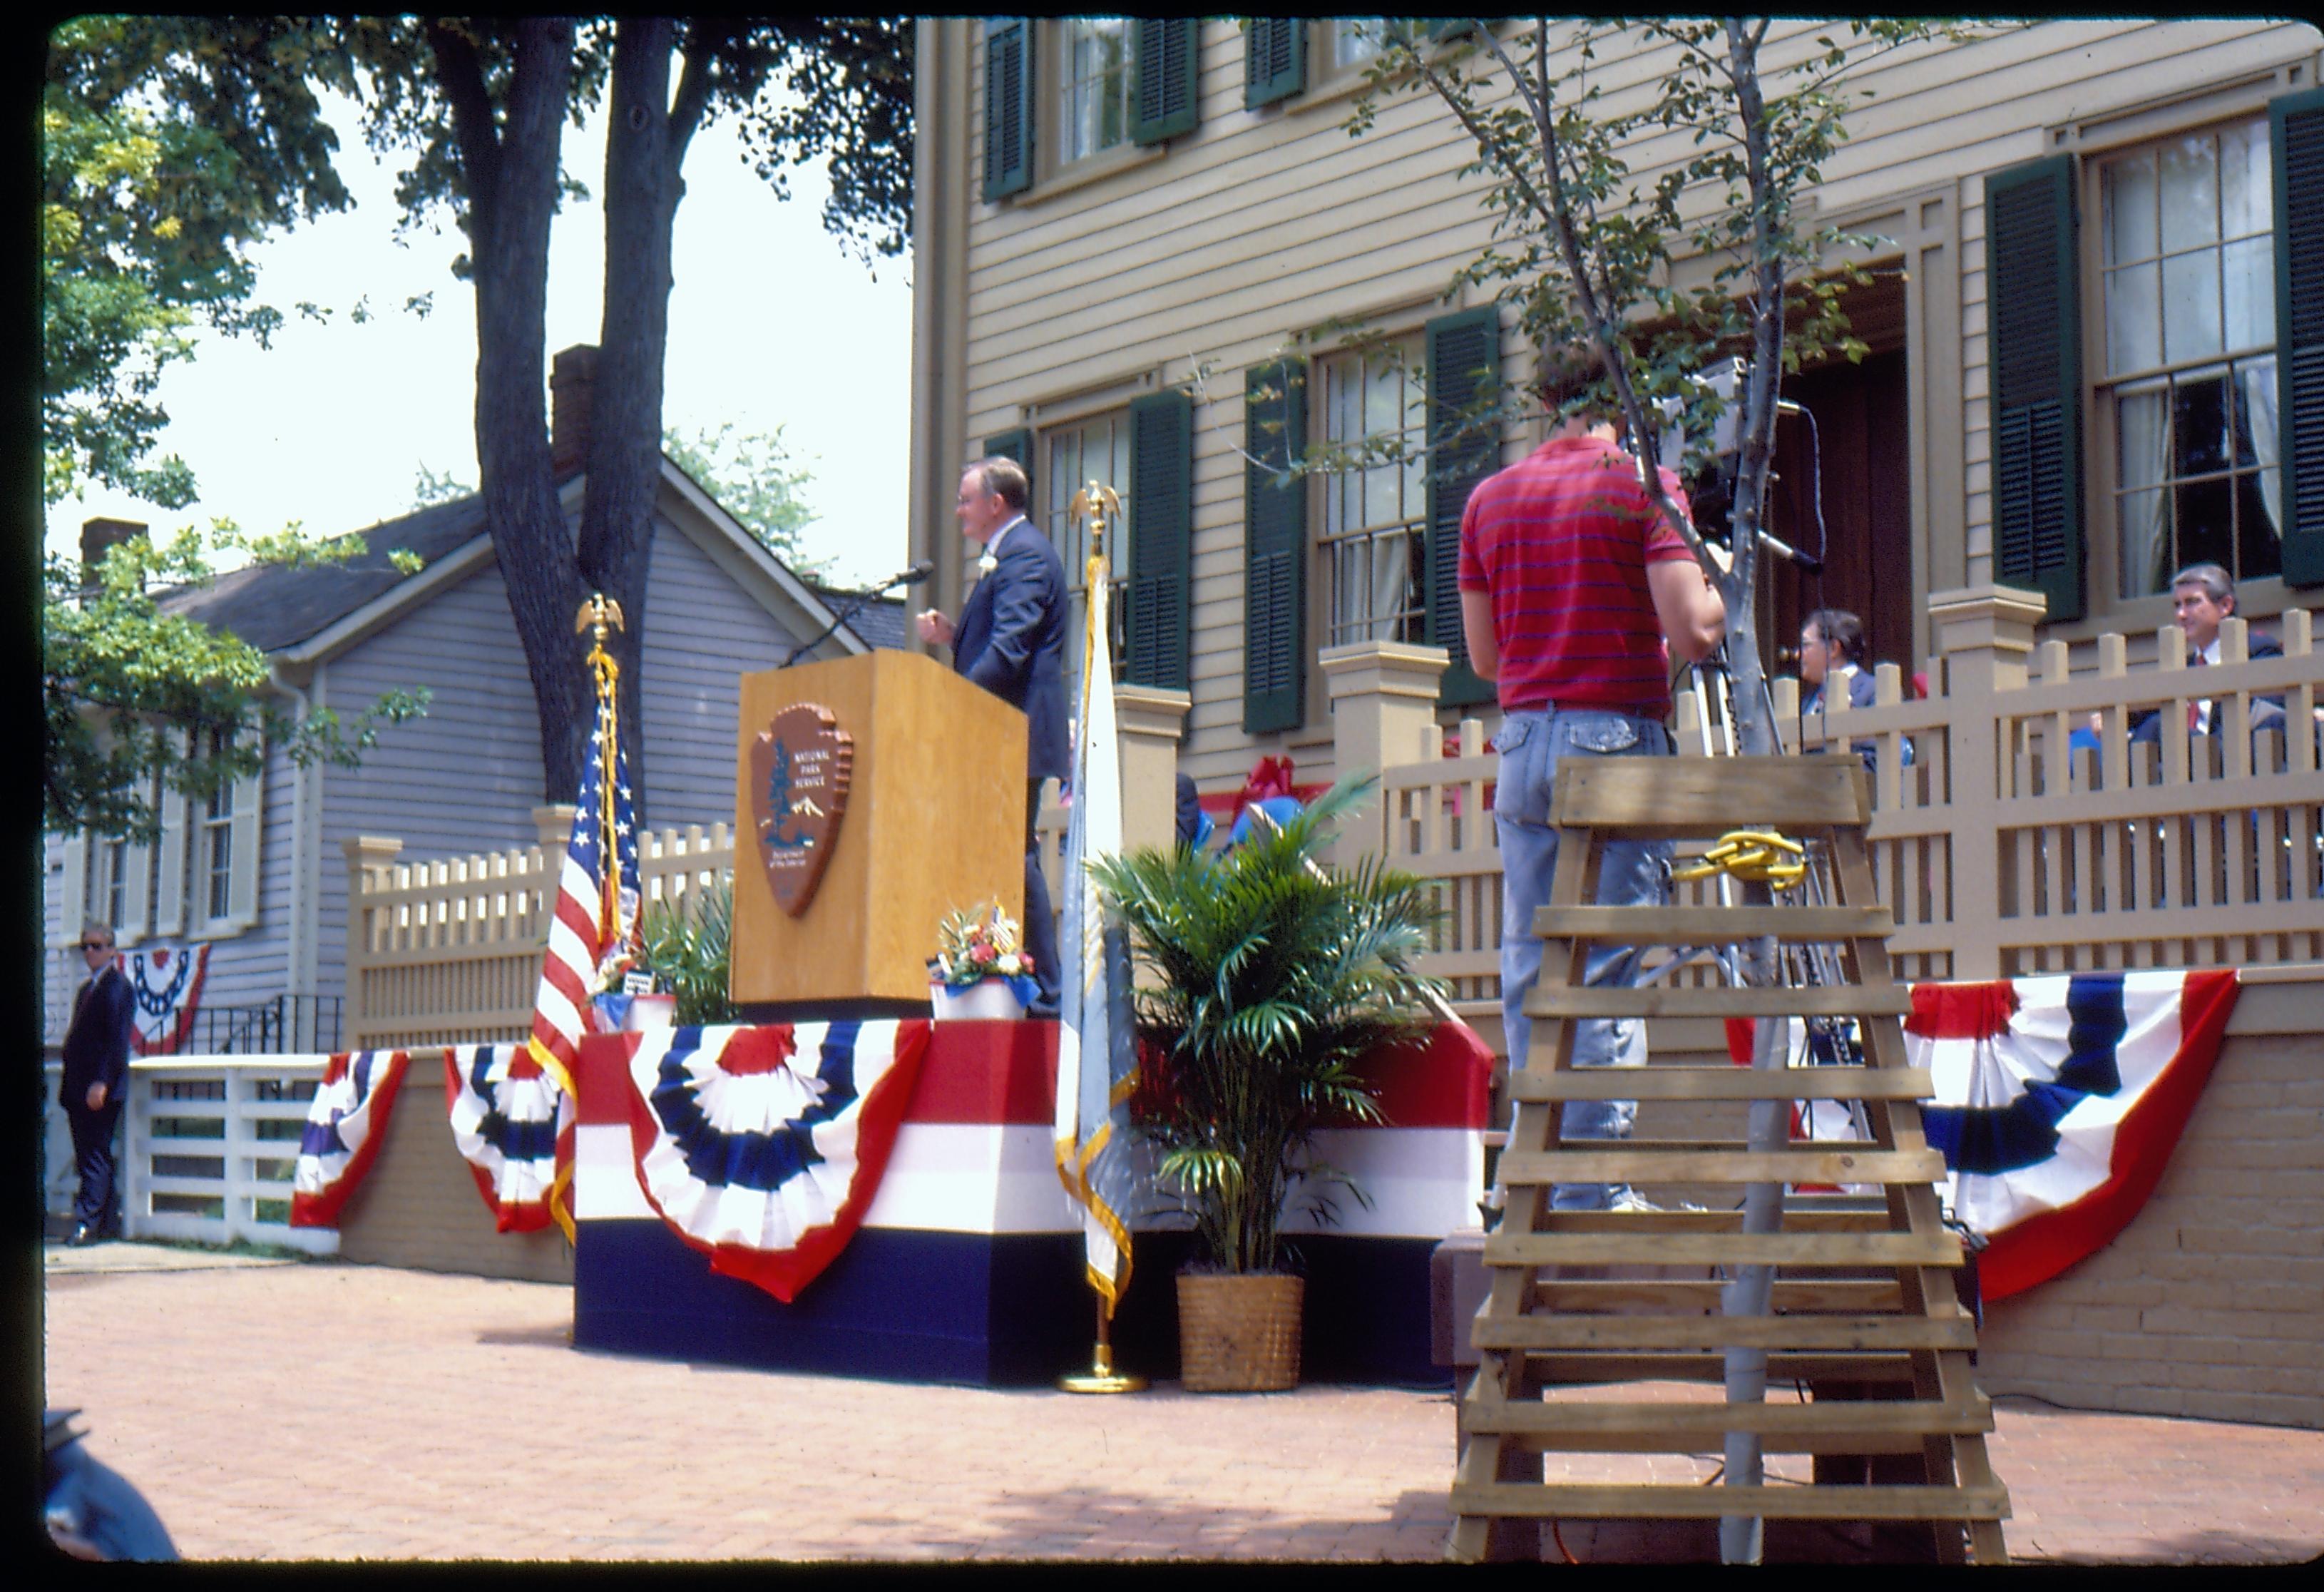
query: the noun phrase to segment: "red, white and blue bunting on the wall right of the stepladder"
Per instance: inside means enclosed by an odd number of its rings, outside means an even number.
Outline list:
[[[2236,990],[2231,969],[1913,985],[1906,1055],[1934,1081],[1922,1125],[1945,1153],[1948,1215],[1985,1239],[1985,1299],[2045,1283],[2129,1227],[2219,1060]],[[1738,1062],[1750,1032],[1727,1023]],[[1829,1102],[1824,1113],[1794,1109],[1792,1136],[1862,1134]]]

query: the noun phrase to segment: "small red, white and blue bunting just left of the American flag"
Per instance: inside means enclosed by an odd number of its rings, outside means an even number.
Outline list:
[[[574,1099],[528,1046],[446,1048],[444,1102],[500,1232],[539,1232],[572,1209]]]

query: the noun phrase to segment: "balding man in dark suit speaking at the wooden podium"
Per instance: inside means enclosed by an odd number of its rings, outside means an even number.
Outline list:
[[[953,669],[1025,709],[1025,948],[1041,985],[1034,1016],[1057,1016],[1057,923],[1034,818],[1041,781],[1074,769],[1064,732],[1064,560],[1025,518],[1030,495],[1025,467],[1013,458],[983,458],[960,474],[953,514],[983,548],[976,560],[983,576],[957,625],[937,609],[913,623],[923,641],[953,648]]]

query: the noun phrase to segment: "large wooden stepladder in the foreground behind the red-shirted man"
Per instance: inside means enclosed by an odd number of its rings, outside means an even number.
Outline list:
[[[1508,1190],[1485,1239],[1490,1292],[1473,1320],[1476,1381],[1459,1401],[1452,1480],[1455,1559],[1506,1552],[1494,1522],[1538,1520],[1875,1520],[1929,1522],[1941,1559],[2003,1562],[2008,1492],[1985,1455],[1992,1404],[1971,1378],[1975,1322],[1952,1267],[1934,1183],[1943,1155],[1922,1136],[1924,1069],[1906,1064],[1908,990],[1889,976],[1889,913],[1873,899],[1864,848],[1864,767],[1838,758],[1606,758],[1557,769],[1559,827],[1550,904],[1534,918],[1541,981],[1527,999],[1532,1055],[1511,1071],[1515,1123],[1501,1155]],[[1836,904],[1587,906],[1604,846],[1624,839],[1710,839],[1743,823],[1822,841]],[[1594,946],[1729,946],[1762,934],[1838,948],[1843,983],[1820,988],[1592,988]],[[1580,1018],[1857,1018],[1862,1067],[1573,1067]],[[1636,1099],[1648,1118],[1717,1113],[1729,1139],[1597,1146],[1564,1141],[1566,1102]],[[1862,1102],[1866,1141],[1792,1143],[1752,1153],[1741,1139],[1755,1099]],[[1655,1102],[1676,1102],[1657,1106]],[[1738,1209],[1550,1211],[1555,1183],[1715,1185],[1741,1204],[1750,1183],[1878,1185],[1880,1197],[1785,1192],[1783,1227],[1745,1234]],[[1776,1267],[1769,1315],[1722,1318],[1720,1278]],[[1631,1281],[1608,1269],[1706,1267],[1692,1281]],[[1580,1276],[1576,1276],[1580,1274]],[[1729,1406],[1722,1353],[1764,1348],[1769,1397]],[[1576,1399],[1573,1383],[1710,1383],[1708,1397]],[[1789,1383],[1880,1385],[1875,1399],[1794,1401]],[[1690,1390],[1692,1392],[1692,1390]],[[1780,1394],[1780,1399],[1778,1399]],[[1766,1455],[1920,1455],[1892,1485],[1543,1483],[1543,1453],[1720,1453],[1724,1434],[1759,1434]],[[1903,1462],[1903,1469],[1915,1469]],[[1894,1473],[1880,1466],[1878,1473]],[[1966,1541],[1964,1541],[1966,1539]],[[1522,1541],[1522,1539],[1520,1539]],[[1522,1548],[1520,1548],[1522,1552]]]

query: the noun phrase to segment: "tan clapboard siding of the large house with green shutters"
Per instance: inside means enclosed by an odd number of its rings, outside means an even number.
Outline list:
[[[1815,49],[1829,23],[1787,19],[1771,58]],[[983,49],[976,28],[925,37],[967,49],[967,95],[941,146],[978,170]],[[1920,195],[1948,207],[1952,237],[1920,258],[1945,314],[1922,314],[1920,365],[1957,365],[1941,397],[1915,411],[1922,474],[1959,502],[1922,507],[1913,525],[1917,588],[1989,579],[1992,493],[1985,370],[1982,179],[2045,153],[2050,128],[2140,109],[2192,91],[2312,63],[2315,28],[2268,19],[2071,19],[2008,28],[1971,44],[1915,44],[1862,77],[1873,98],[1850,139],[1824,163],[1817,218]],[[1320,67],[1320,58],[1315,60]],[[1601,51],[1599,88],[1634,105],[1671,65],[1669,51]],[[1313,79],[1311,79],[1313,84]],[[920,437],[923,469],[944,474],[978,437],[1043,425],[1043,404],[1116,383],[1190,383],[1195,418],[1192,711],[1181,767],[1204,788],[1232,788],[1255,751],[1292,751],[1299,776],[1332,772],[1329,716],[1311,690],[1301,730],[1241,730],[1243,465],[1241,370],[1292,335],[1348,318],[1418,330],[1432,314],[1483,302],[1473,288],[1443,300],[1452,272],[1490,237],[1483,184],[1457,177],[1469,139],[1434,100],[1380,100],[1376,126],[1350,139],[1353,95],[1311,86],[1281,105],[1243,109],[1243,33],[1232,19],[1202,28],[1202,126],[1162,158],[1071,186],[1039,172],[1030,193],[967,207],[964,365],[960,437]],[[1053,93],[1043,60],[1039,84]],[[1048,123],[1039,128],[1048,137]],[[934,135],[932,135],[934,137]],[[1641,139],[1641,174],[1678,160],[1680,135]],[[1871,251],[1871,258],[1892,253]],[[1936,274],[1943,272],[1943,281]],[[1529,356],[1504,337],[1504,374]],[[1329,346],[1329,344],[1325,344]],[[937,360],[941,367],[941,358]],[[941,402],[930,393],[916,414]],[[1504,460],[1536,442],[1515,428]],[[916,555],[934,553],[932,546]],[[1490,718],[1490,713],[1487,713]]]

